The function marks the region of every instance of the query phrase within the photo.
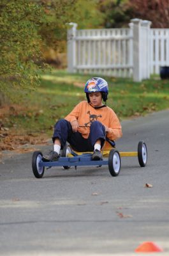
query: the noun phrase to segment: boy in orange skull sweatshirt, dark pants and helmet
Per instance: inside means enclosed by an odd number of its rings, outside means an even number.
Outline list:
[[[43,161],[57,161],[60,150],[68,141],[78,152],[93,151],[92,160],[101,160],[101,148],[108,148],[106,136],[117,140],[122,136],[121,124],[114,111],[102,103],[107,101],[108,84],[101,77],[93,77],[85,84],[87,101],[80,102],[54,127],[54,150]]]

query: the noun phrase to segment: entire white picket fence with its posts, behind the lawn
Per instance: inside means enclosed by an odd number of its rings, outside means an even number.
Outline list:
[[[142,81],[169,65],[169,29],[133,19],[129,28],[68,30],[68,71]]]

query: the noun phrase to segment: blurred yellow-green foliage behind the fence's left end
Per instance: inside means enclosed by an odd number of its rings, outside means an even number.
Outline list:
[[[102,20],[97,9],[98,0],[47,0],[39,1],[45,9],[46,22],[41,27],[41,37],[47,47],[57,52],[66,51],[66,35],[70,22],[78,28],[96,28]]]

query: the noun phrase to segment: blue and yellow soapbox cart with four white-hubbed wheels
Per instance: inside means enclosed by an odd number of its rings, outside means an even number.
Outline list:
[[[107,138],[107,141],[112,146],[110,150],[102,150],[103,160],[92,161],[93,152],[76,152],[72,150],[70,145],[66,143],[61,150],[61,156],[58,161],[45,162],[42,161],[43,154],[40,151],[33,153],[32,168],[36,178],[42,178],[45,172],[45,167],[62,166],[64,169],[69,169],[71,166],[98,166],[108,165],[108,170],[112,176],[119,175],[121,171],[121,157],[138,157],[138,163],[141,167],[147,164],[147,146],[145,142],[139,141],[136,152],[119,152],[115,148],[115,142]]]

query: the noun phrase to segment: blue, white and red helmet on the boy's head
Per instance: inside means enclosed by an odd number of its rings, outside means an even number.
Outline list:
[[[107,100],[108,95],[108,83],[101,77],[92,77],[85,84],[84,92],[86,93],[87,101],[90,102],[90,92],[101,92],[102,99]]]

